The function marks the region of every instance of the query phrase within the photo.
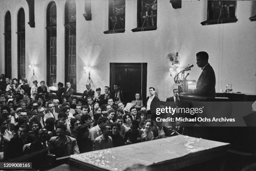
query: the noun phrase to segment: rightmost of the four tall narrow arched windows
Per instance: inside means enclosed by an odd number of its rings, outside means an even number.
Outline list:
[[[77,88],[76,62],[76,2],[68,0],[65,5],[65,82]]]

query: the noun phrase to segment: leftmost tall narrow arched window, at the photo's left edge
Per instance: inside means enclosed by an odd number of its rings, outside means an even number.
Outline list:
[[[12,77],[12,35],[11,35],[11,20],[10,11],[5,14],[5,76]]]

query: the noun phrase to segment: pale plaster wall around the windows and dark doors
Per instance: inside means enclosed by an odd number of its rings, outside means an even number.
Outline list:
[[[38,81],[46,80],[46,7],[49,0],[35,0],[36,27],[26,24],[26,75],[31,79],[28,64],[35,64]],[[64,82],[64,0],[57,7],[57,82]],[[234,92],[256,93],[256,22],[248,18],[255,9],[251,1],[237,2],[238,22],[202,26],[206,20],[206,1],[182,1],[181,9],[173,9],[169,0],[158,0],[157,30],[132,32],[137,26],[137,0],[126,0],[125,32],[105,35],[108,30],[108,0],[92,0],[92,21],[83,17],[84,0],[77,5],[77,92],[83,92],[88,80],[83,66],[90,65],[92,87],[109,85],[110,62],[147,62],[147,87],[155,87],[161,100],[172,95],[173,77],[165,57],[179,52],[181,67],[195,64],[195,54],[206,51],[216,74],[216,91],[232,84]],[[0,35],[4,32],[4,15],[10,10],[12,18],[13,77],[17,77],[17,12],[25,0],[0,1]],[[253,8],[254,7],[254,8]],[[1,36],[0,55],[4,72],[4,37]],[[192,68],[188,79],[198,79],[201,69]]]

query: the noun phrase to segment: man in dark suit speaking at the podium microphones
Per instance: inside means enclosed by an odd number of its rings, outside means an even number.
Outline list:
[[[202,69],[202,73],[197,80],[196,89],[189,89],[189,93],[198,96],[215,97],[215,73],[208,63],[209,55],[207,52],[197,53],[197,66]]]

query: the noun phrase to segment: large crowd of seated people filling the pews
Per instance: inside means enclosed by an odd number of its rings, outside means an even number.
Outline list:
[[[148,118],[146,107],[135,100],[124,103],[118,84],[115,91],[104,87],[96,93],[86,84],[84,96],[74,98],[72,86],[51,94],[44,81],[5,78],[0,80],[0,160],[15,160],[42,151],[33,158],[34,166],[47,154],[69,156],[172,135],[172,129]],[[95,94],[94,94],[95,93]],[[44,162],[43,162],[44,163]]]

